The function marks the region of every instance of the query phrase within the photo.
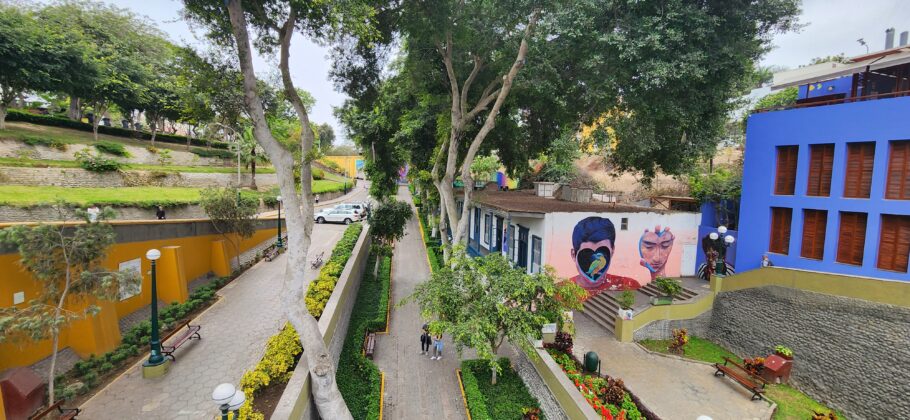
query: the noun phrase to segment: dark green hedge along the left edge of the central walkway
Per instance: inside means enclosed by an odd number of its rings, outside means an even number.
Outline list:
[[[367,267],[373,267],[375,263],[376,256],[370,255]],[[358,420],[378,419],[382,405],[379,368],[363,356],[362,349],[367,331],[384,330],[386,327],[391,266],[391,257],[385,256],[380,263],[378,278],[370,269],[364,273],[341,349],[341,360],[344,362],[338,364],[335,373],[338,389],[351,414]]]

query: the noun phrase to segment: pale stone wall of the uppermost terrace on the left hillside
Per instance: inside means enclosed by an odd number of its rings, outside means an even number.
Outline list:
[[[67,144],[66,146],[66,150],[57,150],[44,146],[29,146],[18,140],[0,139],[0,157],[27,157],[30,159],[45,160],[76,160],[76,153],[82,149],[87,148],[91,153],[95,153],[96,151],[94,147],[88,144]],[[158,159],[160,158],[160,155],[150,152],[145,146],[140,147],[125,145],[125,147],[126,151],[129,152],[130,157],[117,157],[112,155],[105,156],[116,159],[123,163],[141,163],[147,165],[159,164]],[[171,165],[224,166],[226,163],[225,159],[200,157],[186,150],[177,150],[177,148],[180,147],[175,145],[158,144],[156,147],[159,150],[171,151]]]

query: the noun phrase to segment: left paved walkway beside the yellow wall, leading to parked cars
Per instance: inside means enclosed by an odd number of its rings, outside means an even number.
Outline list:
[[[313,229],[311,252],[326,255],[344,232],[344,225]],[[221,299],[192,321],[202,325],[202,340],[175,353],[170,372],[143,379],[141,362],[82,405],[86,419],[207,419],[217,409],[212,390],[220,383],[238,384],[243,372],[262,358],[265,342],[284,324],[281,289],[287,255],[260,262],[222,288]],[[317,271],[303,267],[308,278]]]

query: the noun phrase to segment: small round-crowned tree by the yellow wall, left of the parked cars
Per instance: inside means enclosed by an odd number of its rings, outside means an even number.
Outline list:
[[[206,188],[199,202],[212,226],[234,248],[237,267],[240,267],[240,241],[256,233],[259,203],[244,197],[238,188]]]

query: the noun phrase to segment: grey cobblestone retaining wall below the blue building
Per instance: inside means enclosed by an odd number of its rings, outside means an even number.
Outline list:
[[[707,332],[744,356],[790,347],[793,384],[851,419],[910,413],[910,308],[767,286],[720,294]]]

